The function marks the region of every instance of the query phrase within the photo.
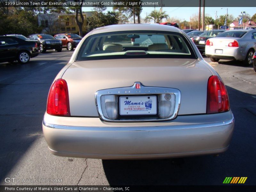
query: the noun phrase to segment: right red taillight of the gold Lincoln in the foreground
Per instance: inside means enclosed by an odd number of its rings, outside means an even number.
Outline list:
[[[211,76],[207,86],[208,114],[220,113],[229,110],[228,92],[224,83],[218,76]]]

